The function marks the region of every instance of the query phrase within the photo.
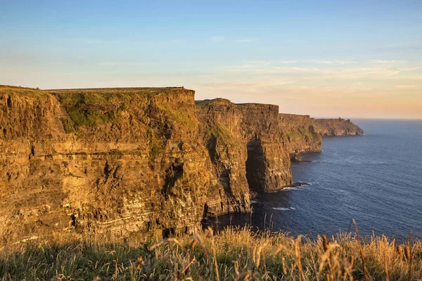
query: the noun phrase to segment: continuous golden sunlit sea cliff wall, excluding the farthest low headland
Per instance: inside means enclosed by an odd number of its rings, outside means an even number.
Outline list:
[[[291,185],[289,154],[319,150],[313,119],[276,105],[195,103],[183,88],[0,86],[0,237],[191,233]],[[328,123],[324,123],[328,124]]]

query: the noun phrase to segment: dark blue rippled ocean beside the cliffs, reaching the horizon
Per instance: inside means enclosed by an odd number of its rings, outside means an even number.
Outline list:
[[[422,238],[422,120],[354,119],[364,136],[324,137],[321,152],[292,164],[293,180],[309,185],[262,192],[252,214],[219,216],[217,228],[244,226],[292,235]],[[353,228],[352,228],[353,229]]]

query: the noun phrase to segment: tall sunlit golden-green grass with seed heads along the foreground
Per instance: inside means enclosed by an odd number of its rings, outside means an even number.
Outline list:
[[[0,250],[2,280],[419,280],[420,241],[249,228],[131,245],[62,235]]]

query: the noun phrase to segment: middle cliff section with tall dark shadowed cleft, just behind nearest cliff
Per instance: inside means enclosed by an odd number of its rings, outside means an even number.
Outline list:
[[[209,205],[212,212],[249,211],[250,189],[274,190],[293,183],[278,106],[236,105],[221,98],[196,103],[200,133],[226,194]]]

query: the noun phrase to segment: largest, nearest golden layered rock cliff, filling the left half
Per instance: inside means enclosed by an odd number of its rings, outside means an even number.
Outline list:
[[[0,91],[1,237],[198,227],[217,179],[193,91]]]

